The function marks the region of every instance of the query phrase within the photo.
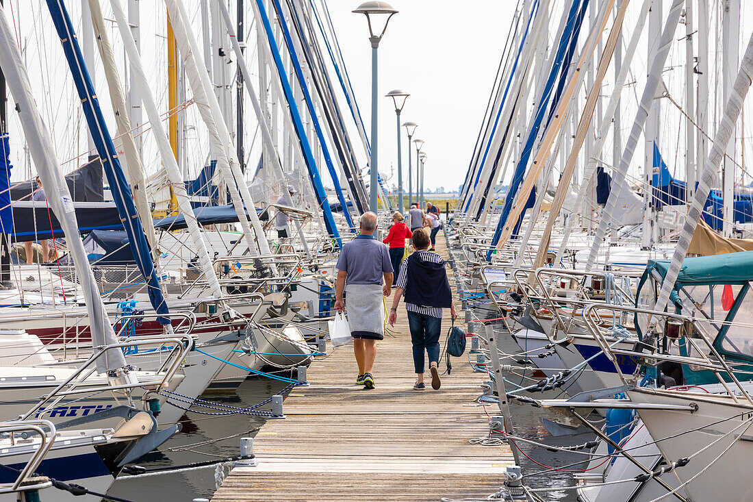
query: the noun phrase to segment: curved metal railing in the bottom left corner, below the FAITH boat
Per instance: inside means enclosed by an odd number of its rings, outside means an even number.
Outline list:
[[[41,490],[52,485],[52,482],[44,476],[38,479],[30,478],[34,475],[37,467],[44,460],[44,456],[47,455],[47,451],[50,451],[55,442],[57,433],[55,426],[48,420],[39,419],[5,421],[0,424],[0,436],[8,435],[11,444],[14,444],[17,433],[23,433],[24,435],[32,433],[34,436],[39,436],[39,445],[35,445],[31,458],[29,458],[29,461],[26,461],[26,464],[20,469],[17,478],[13,482],[0,483],[0,494]]]

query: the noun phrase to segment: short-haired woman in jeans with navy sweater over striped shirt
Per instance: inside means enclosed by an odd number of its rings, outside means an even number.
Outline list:
[[[392,308],[389,309],[389,323],[395,326],[398,319],[398,304],[405,293],[405,310],[408,315],[410,339],[413,342],[413,366],[416,370],[416,384],[413,388],[424,390],[424,351],[428,354],[431,388],[441,386],[439,378],[439,337],[442,329],[442,309],[450,308],[453,320],[458,317],[453,304],[453,293],[444,260],[437,253],[428,250],[428,234],[423,228],[413,232],[413,248],[416,253],[403,261],[398,274],[398,288]]]

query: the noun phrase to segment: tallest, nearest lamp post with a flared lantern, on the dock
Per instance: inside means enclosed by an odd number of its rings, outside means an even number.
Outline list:
[[[379,184],[379,174],[377,171],[377,152],[379,151],[377,145],[377,48],[379,47],[379,43],[387,29],[387,23],[389,23],[390,18],[397,14],[398,11],[395,11],[395,9],[387,2],[372,1],[362,3],[357,9],[355,9],[355,11],[353,11],[353,13],[364,14],[369,25],[369,41],[371,42],[371,158],[369,161],[369,169],[371,170],[371,193],[369,209],[373,213],[377,213],[377,210],[379,209],[379,198],[377,196],[377,185]],[[377,30],[379,35],[374,35],[375,31],[371,26],[372,20],[377,28],[380,27],[380,23],[384,22],[382,31],[379,32]]]

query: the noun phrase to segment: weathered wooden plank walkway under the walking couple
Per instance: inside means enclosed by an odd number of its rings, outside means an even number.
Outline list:
[[[438,237],[441,252],[445,242]],[[449,312],[442,324],[444,347]],[[413,390],[402,303],[394,331],[395,338],[386,336],[377,348],[374,390],[354,384],[352,345],[314,361],[309,386],[285,399],[287,418],[267,422],[256,436],[258,465],[234,468],[212,501],[417,502],[497,491],[505,467],[513,464],[510,448],[468,443],[488,431],[484,409],[468,406],[486,375],[471,372],[464,356],[453,359],[452,375],[444,375],[440,390],[431,390],[428,372],[427,390]]]

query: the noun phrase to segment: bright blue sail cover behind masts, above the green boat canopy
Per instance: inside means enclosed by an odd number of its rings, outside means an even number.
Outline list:
[[[696,186],[698,184],[696,183]],[[653,203],[657,209],[663,206],[682,206],[687,198],[687,182],[675,179],[664,162],[659,147],[654,142],[654,171],[651,177]],[[733,221],[735,223],[753,222],[753,195],[734,194]],[[709,192],[706,204],[703,204],[703,221],[714,230],[724,227],[724,197],[718,190]]]

